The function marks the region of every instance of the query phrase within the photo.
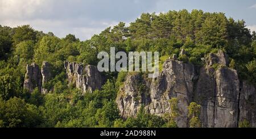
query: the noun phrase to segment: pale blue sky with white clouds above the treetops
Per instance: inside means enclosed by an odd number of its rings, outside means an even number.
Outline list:
[[[58,37],[72,33],[86,40],[119,22],[129,26],[143,12],[182,9],[224,12],[228,18],[245,20],[247,28],[256,31],[256,0],[0,0],[0,24],[30,24]]]

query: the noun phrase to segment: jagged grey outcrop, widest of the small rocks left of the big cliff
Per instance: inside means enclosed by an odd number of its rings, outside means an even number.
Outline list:
[[[83,92],[100,90],[105,78],[92,65],[83,65],[76,62],[65,62],[69,83],[75,83]]]

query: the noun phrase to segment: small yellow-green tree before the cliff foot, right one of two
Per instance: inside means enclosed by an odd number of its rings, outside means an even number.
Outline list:
[[[195,102],[191,102],[188,106],[188,117],[190,117],[189,120],[189,127],[191,128],[200,128],[201,122],[199,119],[201,111],[201,106],[199,104],[196,104]]]

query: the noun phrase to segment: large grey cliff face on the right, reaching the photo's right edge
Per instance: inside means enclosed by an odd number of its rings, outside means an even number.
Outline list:
[[[205,67],[198,69],[192,64],[167,60],[159,77],[144,83],[147,89],[142,94],[150,94],[143,97],[135,97],[137,79],[128,75],[117,97],[121,115],[136,116],[138,109],[144,106],[151,114],[163,116],[170,112],[168,100],[175,97],[180,112],[176,119],[178,127],[188,127],[187,107],[191,102],[201,105],[203,127],[238,127],[242,120],[255,127],[254,87],[240,81],[237,71],[226,66],[228,57],[221,50],[217,54],[210,53],[206,62]],[[212,68],[214,64],[218,68]]]

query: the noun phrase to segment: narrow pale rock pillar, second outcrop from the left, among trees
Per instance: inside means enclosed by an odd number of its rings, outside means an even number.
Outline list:
[[[45,83],[47,83],[48,81],[51,80],[52,78],[52,65],[49,64],[49,62],[47,61],[43,61],[43,64],[42,64],[42,68],[41,68],[41,73],[42,73],[42,85],[44,85]],[[48,89],[45,89],[43,86],[42,86],[42,93],[43,94],[47,94],[49,92]]]

